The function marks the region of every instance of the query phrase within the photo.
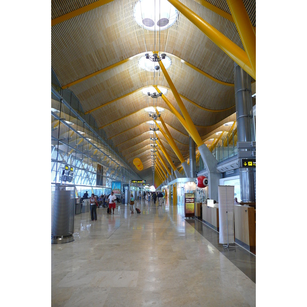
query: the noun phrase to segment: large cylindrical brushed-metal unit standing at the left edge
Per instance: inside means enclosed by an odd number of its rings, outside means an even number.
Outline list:
[[[69,243],[74,240],[75,188],[51,188],[51,244]]]

